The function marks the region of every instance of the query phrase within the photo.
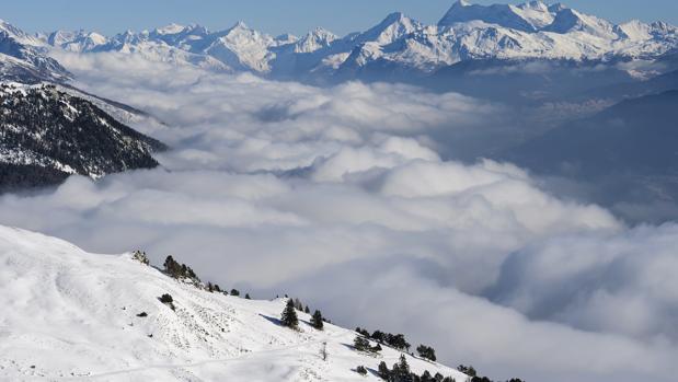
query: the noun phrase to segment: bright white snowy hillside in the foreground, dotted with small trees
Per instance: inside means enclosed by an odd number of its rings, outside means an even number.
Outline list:
[[[317,331],[303,313],[299,332],[279,326],[285,299],[210,293],[130,254],[89,254],[1,225],[0,265],[0,380],[379,380],[379,362],[391,366],[401,355],[388,347],[376,356],[358,352],[355,332],[331,324]],[[175,311],[159,301],[164,293]],[[418,374],[467,379],[415,357],[407,362]]]

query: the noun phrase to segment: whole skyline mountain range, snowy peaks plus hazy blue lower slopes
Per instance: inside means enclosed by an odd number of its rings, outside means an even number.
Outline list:
[[[677,48],[678,28],[663,22],[614,24],[541,1],[459,0],[435,25],[397,12],[343,37],[320,27],[300,37],[271,36],[242,22],[216,32],[170,24],[114,36],[28,35],[2,22],[0,79],[66,82],[72,76],[51,58],[56,51],[116,53],[321,85],[390,81],[504,102],[543,101],[671,73],[678,70]]]

